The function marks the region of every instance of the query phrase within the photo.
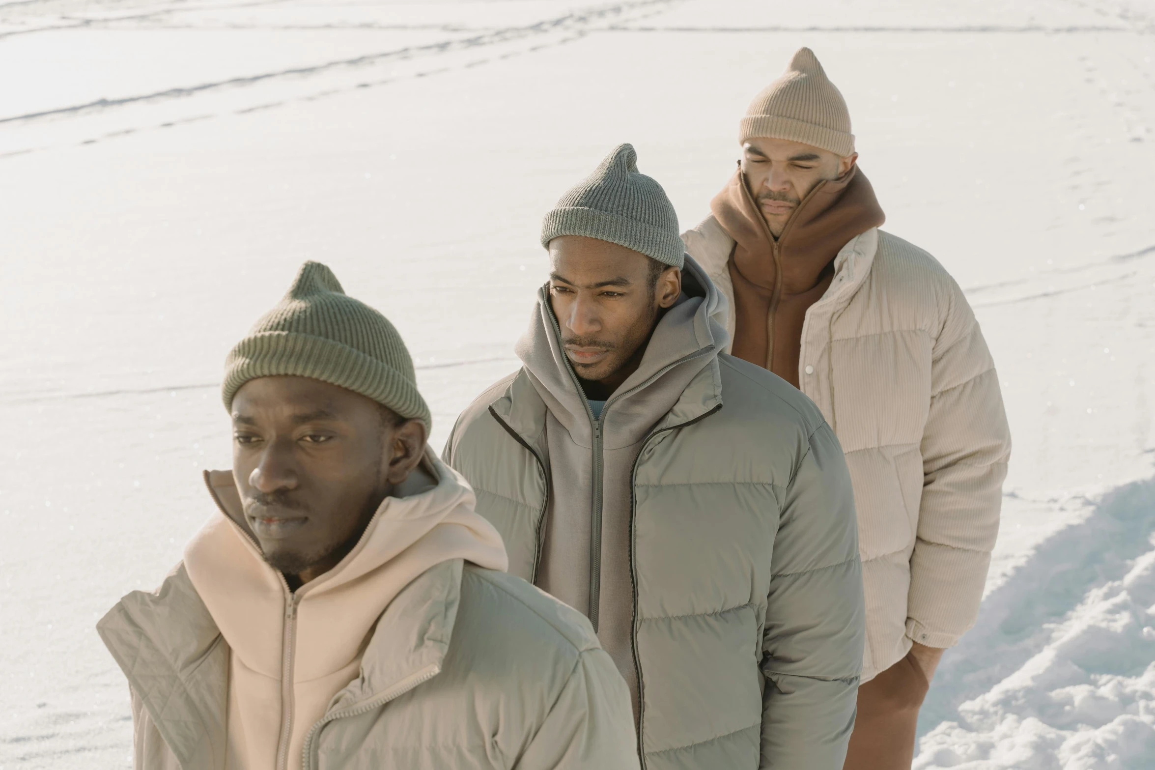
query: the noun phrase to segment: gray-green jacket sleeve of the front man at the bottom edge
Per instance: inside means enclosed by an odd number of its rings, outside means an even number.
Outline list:
[[[629,691],[601,648],[586,650],[515,770],[638,770]]]

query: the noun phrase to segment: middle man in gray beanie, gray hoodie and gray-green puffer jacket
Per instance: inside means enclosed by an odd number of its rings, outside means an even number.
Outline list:
[[[723,354],[724,302],[628,144],[542,229],[523,366],[444,458],[509,570],[589,616],[649,770],[837,770],[863,596],[850,479],[819,410]]]

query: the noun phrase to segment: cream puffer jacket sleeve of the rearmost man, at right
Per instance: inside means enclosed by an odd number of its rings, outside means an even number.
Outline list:
[[[907,635],[937,648],[957,643],[978,616],[1011,456],[994,362],[962,290],[951,289],[931,358],[907,596]]]

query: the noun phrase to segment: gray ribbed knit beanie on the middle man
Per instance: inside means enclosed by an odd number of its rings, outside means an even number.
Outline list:
[[[608,240],[680,268],[686,248],[678,215],[656,181],[638,171],[632,144],[619,144],[542,223],[542,246],[560,236]]]

